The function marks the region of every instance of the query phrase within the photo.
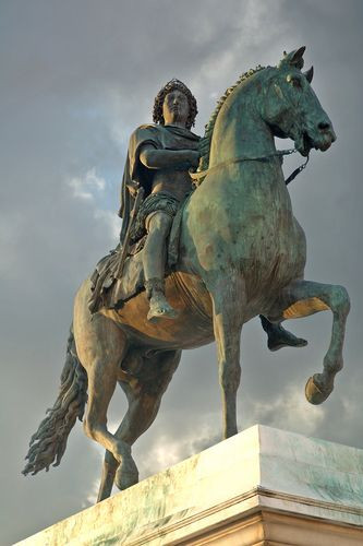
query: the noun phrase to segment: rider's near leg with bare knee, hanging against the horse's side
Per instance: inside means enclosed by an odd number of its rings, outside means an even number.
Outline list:
[[[158,318],[173,319],[177,311],[165,297],[165,262],[166,239],[169,235],[172,218],[169,214],[158,211],[146,218],[148,232],[143,251],[145,288],[150,302],[148,320]]]

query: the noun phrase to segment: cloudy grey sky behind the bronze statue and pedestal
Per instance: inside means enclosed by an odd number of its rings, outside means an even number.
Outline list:
[[[342,284],[351,296],[346,365],[328,401],[310,405],[304,385],[322,370],[331,313],[290,321],[308,346],[277,353],[251,321],[242,333],[239,429],[259,423],[363,449],[362,23],[361,0],[0,1],[1,545],[95,502],[104,450],[80,423],[59,467],[35,477],[21,471],[57,396],[75,292],[117,245],[131,132],[152,121],[155,95],[178,78],[197,98],[203,134],[242,72],[277,64],[302,45],[338,139],[311,154],[289,189],[307,238],[306,278]],[[286,175],[299,162],[287,158]],[[120,390],[111,430],[125,408]],[[136,442],[141,478],[220,434],[211,344],[184,352],[156,422]]]

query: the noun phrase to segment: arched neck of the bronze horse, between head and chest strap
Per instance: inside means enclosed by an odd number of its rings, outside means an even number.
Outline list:
[[[226,100],[213,132],[209,167],[238,157],[264,157],[276,151],[273,132],[258,111],[258,99],[256,87],[249,85],[240,86]]]

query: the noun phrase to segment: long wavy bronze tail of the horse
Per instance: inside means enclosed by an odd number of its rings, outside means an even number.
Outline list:
[[[58,466],[66,448],[66,440],[76,418],[83,418],[87,402],[87,373],[82,367],[75,348],[73,327],[66,345],[66,357],[61,375],[60,392],[53,407],[47,410],[38,430],[33,435],[28,460],[23,474],[33,475],[46,468],[56,460]]]

